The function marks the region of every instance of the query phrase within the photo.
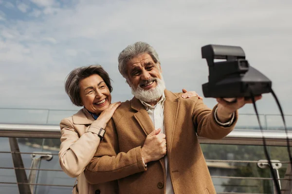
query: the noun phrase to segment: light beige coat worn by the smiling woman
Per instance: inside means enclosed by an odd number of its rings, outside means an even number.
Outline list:
[[[59,161],[63,171],[72,178],[77,177],[79,194],[116,194],[116,181],[91,185],[84,176],[84,169],[91,161],[100,138],[97,136],[100,128],[106,128],[106,123],[94,120],[92,115],[83,108],[78,113],[64,118],[60,123],[61,146]],[[73,185],[72,185],[73,187]]]

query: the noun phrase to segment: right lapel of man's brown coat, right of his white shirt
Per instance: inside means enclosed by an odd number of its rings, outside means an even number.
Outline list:
[[[175,131],[177,112],[179,110],[179,98],[168,90],[164,91],[164,130],[166,135],[167,153],[170,153],[172,138]]]

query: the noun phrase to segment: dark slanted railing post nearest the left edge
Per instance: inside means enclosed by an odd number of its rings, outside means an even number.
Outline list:
[[[19,183],[19,182],[24,183],[24,184],[18,184],[19,194],[32,194],[29,185],[25,184],[25,183],[28,183],[28,179],[27,179],[25,170],[19,169],[19,168],[24,168],[24,165],[23,165],[23,161],[21,158],[21,154],[15,153],[15,152],[20,152],[17,139],[14,137],[10,137],[9,144],[10,144],[10,149],[12,152],[11,155],[12,155],[13,165],[15,168],[15,175],[16,175],[17,183]]]

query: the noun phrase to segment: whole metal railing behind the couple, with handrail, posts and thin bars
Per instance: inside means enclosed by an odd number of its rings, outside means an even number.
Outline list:
[[[199,137],[201,144],[221,144],[221,145],[246,145],[246,146],[262,146],[262,136],[266,138],[268,146],[287,146],[287,136],[283,130],[265,130],[262,134],[260,130],[255,129],[235,129],[229,135],[221,140],[210,140]],[[10,153],[13,156],[14,167],[1,167],[0,169],[14,169],[17,177],[17,182],[0,182],[1,184],[17,184],[20,194],[26,192],[34,193],[35,186],[55,186],[55,187],[72,187],[72,185],[60,185],[60,184],[40,184],[36,183],[37,171],[61,171],[55,169],[39,168],[39,162],[44,160],[50,160],[50,157],[56,156],[54,153],[47,152],[20,152],[16,138],[45,138],[45,139],[59,139],[61,137],[60,129],[58,125],[31,125],[31,124],[0,124],[0,137],[8,137],[10,142],[11,151],[0,151],[0,153]],[[292,145],[292,131],[288,132],[288,139]],[[30,154],[37,158],[32,158],[32,164],[30,168],[24,168],[21,154]],[[19,158],[20,157],[20,158]],[[236,160],[206,160],[209,167],[212,167],[214,163],[224,162],[238,162],[238,163],[258,163],[259,161],[236,161]],[[287,161],[278,161],[281,164],[290,164]],[[214,167],[214,166],[213,166]],[[29,170],[29,178],[25,174],[25,170]],[[288,194],[292,189],[291,184],[291,167],[287,168],[284,178],[278,178],[281,181],[283,188],[283,194]],[[261,179],[271,180],[272,178],[262,177],[231,177],[231,176],[211,176],[212,178],[228,178],[228,179]],[[286,192],[286,193],[285,193]],[[218,194],[239,194],[231,192],[219,192]],[[291,194],[291,193],[289,193]]]

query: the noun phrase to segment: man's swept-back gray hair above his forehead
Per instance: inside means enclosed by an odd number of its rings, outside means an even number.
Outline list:
[[[118,58],[119,71],[124,78],[128,79],[128,61],[144,53],[149,54],[156,65],[160,64],[158,54],[153,47],[146,42],[135,42],[133,45],[129,45],[126,49],[124,49]]]

